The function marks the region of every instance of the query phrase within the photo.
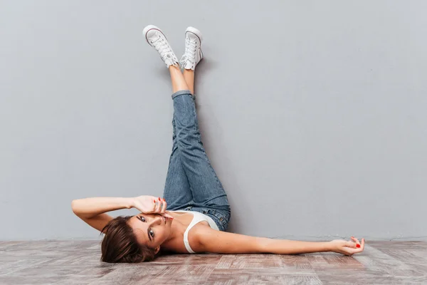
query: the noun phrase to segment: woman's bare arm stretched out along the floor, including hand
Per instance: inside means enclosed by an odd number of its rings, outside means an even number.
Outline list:
[[[355,239],[354,242],[334,240],[332,242],[300,242],[287,239],[268,239],[266,237],[250,237],[243,234],[219,232],[214,229],[198,229],[196,232],[196,252],[213,252],[220,254],[303,254],[312,252],[338,252],[352,255],[362,252],[362,244]],[[356,242],[357,241],[357,242]],[[357,247],[359,244],[359,247]]]

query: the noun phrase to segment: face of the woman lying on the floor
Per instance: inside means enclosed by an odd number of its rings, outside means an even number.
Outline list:
[[[134,230],[139,244],[157,249],[172,232],[172,219],[160,214],[137,214],[130,218],[129,225]]]

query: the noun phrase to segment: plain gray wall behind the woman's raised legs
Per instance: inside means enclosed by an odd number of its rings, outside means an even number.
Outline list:
[[[204,33],[231,231],[427,237],[426,1],[147,3],[0,2],[0,239],[97,239],[72,199],[162,195],[172,90],[147,24],[179,57]]]

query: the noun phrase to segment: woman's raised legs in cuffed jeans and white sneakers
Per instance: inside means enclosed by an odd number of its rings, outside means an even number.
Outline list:
[[[185,68],[184,75],[164,33],[156,26],[147,26],[144,34],[169,68],[174,90],[174,146],[164,190],[169,209],[189,205],[221,210],[218,211],[222,215],[218,217],[219,221],[223,218],[228,220],[230,206],[227,195],[201,142],[194,103],[194,68],[203,57],[201,33],[196,28],[186,29],[186,51],[180,61]]]

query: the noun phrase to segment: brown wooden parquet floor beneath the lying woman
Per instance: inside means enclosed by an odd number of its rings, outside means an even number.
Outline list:
[[[427,242],[362,254],[184,254],[105,264],[100,242],[0,242],[0,284],[427,284]]]

